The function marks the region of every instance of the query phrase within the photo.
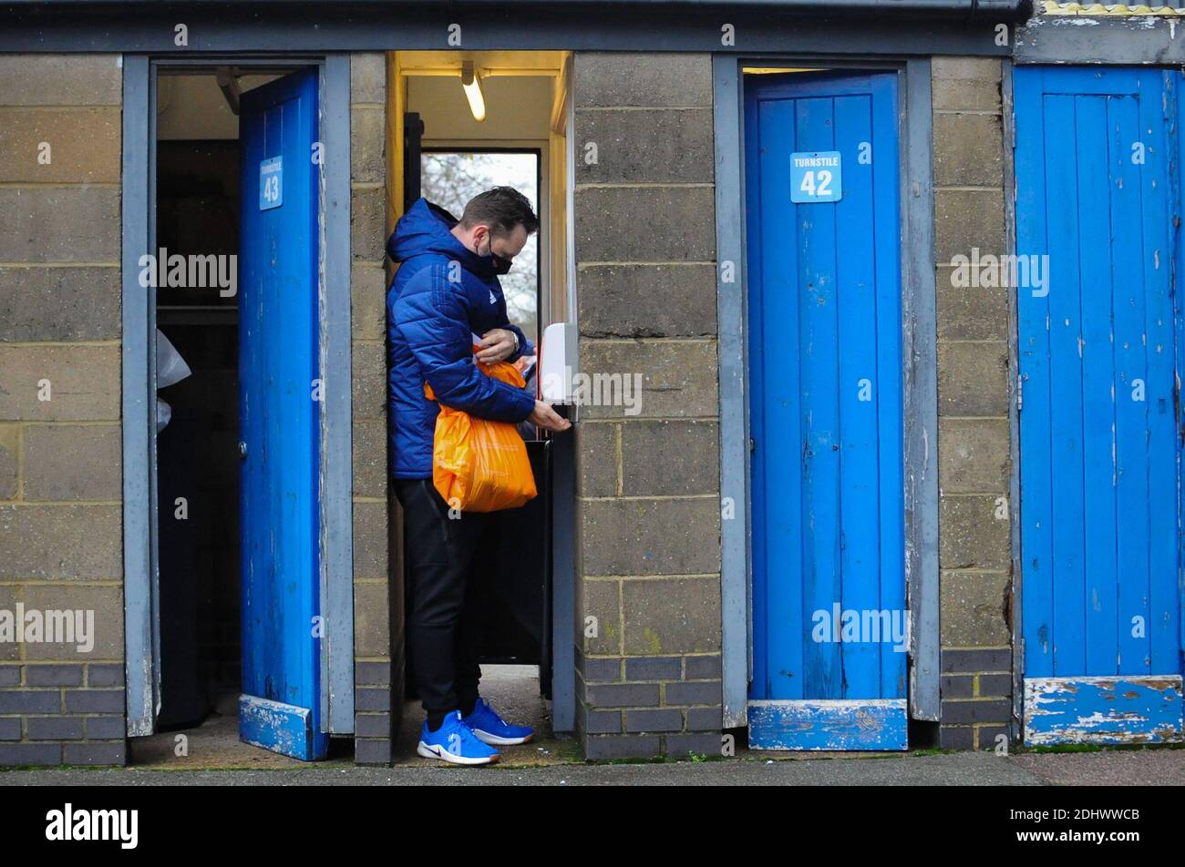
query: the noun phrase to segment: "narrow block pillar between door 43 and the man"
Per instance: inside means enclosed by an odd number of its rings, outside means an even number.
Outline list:
[[[386,58],[350,58],[354,760],[391,762],[393,672],[386,448]],[[402,638],[401,638],[402,640]],[[392,698],[392,695],[395,698]]]

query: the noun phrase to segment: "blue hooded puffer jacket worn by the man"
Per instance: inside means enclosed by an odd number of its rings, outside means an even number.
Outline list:
[[[533,354],[534,347],[506,319],[492,258],[467,250],[449,231],[454,225],[456,218],[448,211],[419,199],[386,243],[387,255],[402,263],[386,294],[387,409],[396,479],[433,475],[438,407],[424,397],[425,380],[442,404],[479,418],[521,422],[534,410],[530,393],[491,379],[474,362],[470,333],[515,332],[519,351],[510,361]]]

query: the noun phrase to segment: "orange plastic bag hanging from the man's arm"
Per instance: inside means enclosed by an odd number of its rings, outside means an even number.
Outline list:
[[[492,365],[479,361],[478,367],[517,388],[526,385],[523,374],[508,361]],[[427,383],[424,396],[436,399]],[[513,509],[538,493],[526,443],[513,424],[474,418],[444,404],[440,406],[433,439],[433,484],[449,508],[462,512]]]

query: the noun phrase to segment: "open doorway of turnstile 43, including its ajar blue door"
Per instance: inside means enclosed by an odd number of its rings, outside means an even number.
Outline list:
[[[305,139],[316,140],[318,68],[162,65],[154,81],[152,252],[140,264],[155,333],[156,708],[132,760],[348,753],[344,741],[329,751],[307,637],[321,590],[321,410],[309,388],[322,253],[301,225],[319,213],[319,172],[302,165]],[[292,250],[275,245],[286,233]],[[269,295],[271,284],[283,291]]]

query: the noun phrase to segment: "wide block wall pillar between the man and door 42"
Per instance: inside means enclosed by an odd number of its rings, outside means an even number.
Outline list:
[[[578,52],[572,98],[581,370],[641,377],[577,426],[579,740],[719,754],[711,58]]]

